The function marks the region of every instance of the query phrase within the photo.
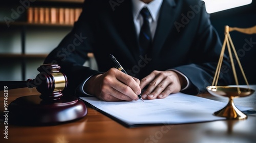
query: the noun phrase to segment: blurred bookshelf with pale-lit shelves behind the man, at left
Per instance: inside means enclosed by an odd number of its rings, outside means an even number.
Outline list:
[[[55,15],[55,22],[29,19],[31,11],[35,8],[56,10],[63,9],[77,10],[81,12],[81,5],[84,0],[37,0],[30,2],[26,7],[21,1],[10,0],[0,6],[0,80],[27,80],[35,78],[38,74],[36,70],[44,62],[47,55],[59,44],[73,27],[73,23],[78,18],[73,16],[73,20],[59,22],[59,13]],[[20,6],[24,6],[23,12]],[[19,8],[19,16],[12,17],[13,10]],[[16,11],[17,12],[17,11]],[[23,12],[23,13],[22,13]],[[33,11],[34,12],[34,11]],[[50,12],[50,11],[49,11]],[[45,13],[45,12],[44,12]],[[32,13],[34,15],[34,13]],[[69,13],[71,15],[71,13]],[[65,15],[65,13],[63,13]],[[70,16],[69,17],[72,17]],[[77,13],[76,13],[77,15]],[[7,23],[5,17],[14,20]],[[38,18],[40,17],[38,11]],[[30,17],[31,18],[31,17]],[[34,18],[34,16],[32,17]],[[49,17],[50,19],[51,17]],[[76,19],[75,19],[76,18]],[[88,55],[93,58],[93,54]],[[94,59],[92,59],[94,60]],[[91,66],[92,61],[85,63]]]

